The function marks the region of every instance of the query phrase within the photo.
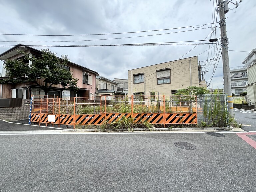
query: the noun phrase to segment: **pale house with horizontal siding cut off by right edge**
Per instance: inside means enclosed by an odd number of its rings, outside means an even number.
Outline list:
[[[247,68],[248,85],[246,85],[247,95],[251,104],[256,105],[256,64],[252,64]]]

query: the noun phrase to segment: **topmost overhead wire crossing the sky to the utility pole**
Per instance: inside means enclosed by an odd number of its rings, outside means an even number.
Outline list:
[[[10,33],[0,33],[0,35],[27,35],[27,36],[90,36],[90,35],[115,35],[115,34],[127,34],[127,33],[143,33],[143,32],[151,32],[151,31],[165,31],[165,30],[173,30],[173,29],[182,29],[182,28],[201,28],[205,25],[211,25],[212,23],[202,24],[202,25],[193,25],[186,27],[176,27],[170,29],[158,29],[158,30],[148,30],[148,31],[134,31],[134,32],[122,32],[122,33],[100,33],[100,34],[78,34],[78,35],[36,35],[36,34],[10,34]],[[201,26],[201,27],[197,27]]]

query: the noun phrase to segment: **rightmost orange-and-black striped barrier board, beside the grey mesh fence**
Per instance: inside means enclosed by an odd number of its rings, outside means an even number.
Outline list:
[[[196,113],[166,113],[166,124],[197,124]]]

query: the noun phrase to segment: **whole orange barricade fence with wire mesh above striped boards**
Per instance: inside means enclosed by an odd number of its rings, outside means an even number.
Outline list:
[[[33,98],[31,122],[101,125],[122,118],[134,123],[197,124],[196,96],[109,96]]]

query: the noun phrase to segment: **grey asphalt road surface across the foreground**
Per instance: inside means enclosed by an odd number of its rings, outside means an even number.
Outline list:
[[[222,133],[0,135],[0,191],[254,192],[256,149]]]

